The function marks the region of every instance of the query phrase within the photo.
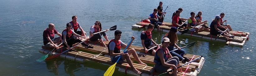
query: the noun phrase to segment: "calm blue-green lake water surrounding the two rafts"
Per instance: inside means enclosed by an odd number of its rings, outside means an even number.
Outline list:
[[[202,19],[211,22],[216,15],[224,12],[224,19],[228,20],[227,24],[233,30],[250,32],[249,41],[243,47],[178,35],[179,46],[196,41],[193,47],[184,48],[186,53],[205,57],[198,76],[256,76],[255,0],[162,1],[163,9],[168,6],[165,22],[171,22],[172,13],[182,7],[182,18],[190,17],[191,11],[196,14],[202,11]],[[83,30],[89,33],[90,26],[99,20],[103,29],[117,25],[117,29],[123,32],[121,40],[126,44],[131,36],[135,36],[133,45],[141,46],[140,32],[143,29],[132,29],[131,25],[147,19],[159,6],[158,0],[0,0],[0,3],[1,76],[102,76],[110,65],[95,61],[79,63],[62,58],[36,62],[44,55],[38,50],[43,45],[42,32],[48,24],[54,23],[55,29],[62,32],[71,17],[77,15]],[[113,33],[107,32],[109,39],[114,38]],[[153,39],[160,44],[165,33],[153,31]],[[117,70],[115,76],[126,75]]]

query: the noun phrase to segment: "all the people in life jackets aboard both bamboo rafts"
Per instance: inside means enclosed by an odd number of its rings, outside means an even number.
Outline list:
[[[162,4],[163,2],[159,2],[158,8],[157,9],[155,8],[154,12],[149,15],[148,19],[150,20],[151,24],[149,24],[147,29],[141,32],[141,35],[140,35],[141,44],[145,50],[145,53],[150,53],[154,55],[155,66],[152,69],[154,69],[158,73],[164,73],[168,69],[172,68],[174,69],[173,71],[174,76],[177,76],[177,71],[182,72],[181,68],[177,69],[177,67],[179,66],[179,61],[189,62],[189,59],[183,56],[185,54],[185,50],[181,49],[176,44],[178,41],[178,37],[176,34],[176,32],[178,31],[177,30],[178,27],[180,28],[191,27],[191,28],[194,28],[191,31],[196,31],[196,32],[201,31],[203,28],[210,29],[210,33],[212,35],[221,34],[222,32],[224,32],[225,29],[232,30],[230,25],[223,24],[223,22],[226,22],[226,20],[222,21],[222,18],[224,17],[224,13],[221,13],[220,16],[216,15],[215,19],[211,22],[210,27],[208,27],[207,20],[201,21],[202,20],[201,11],[199,11],[196,16],[194,12],[191,12],[190,13],[191,17],[189,19],[185,19],[185,18],[179,17],[180,13],[183,11],[182,8],[179,8],[176,12],[173,13],[173,17],[172,17],[173,27],[171,27],[170,31],[164,35],[164,38],[162,40],[162,46],[159,47],[159,45],[156,44],[152,39],[151,31],[154,30],[154,27],[157,27],[159,31],[160,30],[159,25],[165,26],[165,24],[163,23],[163,20],[164,20],[163,15],[166,12],[162,11],[163,10]],[[159,15],[161,15],[161,17]],[[187,24],[185,23],[185,20],[188,20]],[[197,24],[202,24],[202,26],[196,27]],[[86,32],[83,31],[82,27],[77,22],[77,16],[75,15],[72,16],[72,21],[66,24],[66,28],[62,31],[62,34],[60,34],[55,30],[55,25],[53,23],[50,23],[48,27],[49,28],[46,28],[43,32],[43,43],[45,47],[57,48],[58,45],[54,43],[55,34],[61,37],[61,41],[62,43],[64,43],[63,44],[64,47],[67,47],[68,49],[72,49],[73,44],[82,42],[82,39],[84,38],[86,39]],[[80,29],[80,31],[78,31],[78,28]],[[141,74],[141,72],[138,71],[133,66],[129,56],[132,54],[135,60],[138,61],[139,64],[141,65],[147,65],[147,64],[140,61],[135,49],[129,49],[128,51],[125,51],[125,52],[120,51],[121,47],[128,46],[129,48],[131,45],[131,44],[126,45],[120,40],[122,32],[120,30],[116,30],[114,33],[115,38],[111,39],[109,44],[106,45],[104,44],[101,36],[103,35],[103,37],[107,41],[109,40],[107,38],[106,33],[101,31],[102,31],[102,24],[100,23],[100,21],[96,21],[90,29],[89,40],[91,41],[99,40],[102,43],[103,47],[108,47],[108,52],[112,62],[116,62],[118,58],[121,56],[121,59],[117,63],[121,63],[126,59],[127,63],[131,66],[133,72],[135,72],[136,74]],[[97,33],[97,32],[101,32],[101,33]],[[94,33],[97,33],[97,34],[94,34]],[[222,35],[228,36],[228,37],[234,37],[234,35],[231,35],[228,31],[224,32]],[[135,39],[134,36],[132,36],[131,38],[132,38],[132,41]],[[83,44],[87,48],[93,48],[92,46],[86,44],[85,42],[81,44]],[[157,46],[157,47],[150,49],[154,46]],[[171,51],[174,49],[178,49],[178,51]]]

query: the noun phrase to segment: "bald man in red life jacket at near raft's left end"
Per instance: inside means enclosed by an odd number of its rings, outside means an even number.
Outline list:
[[[53,43],[54,34],[57,34],[60,37],[62,36],[59,32],[57,32],[57,30],[54,29],[55,27],[53,23],[50,23],[48,27],[49,28],[46,28],[43,32],[44,45],[48,48],[57,48],[58,45]]]

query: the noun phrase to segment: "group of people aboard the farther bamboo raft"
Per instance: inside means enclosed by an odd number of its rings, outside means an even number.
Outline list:
[[[154,9],[153,13],[149,15],[149,20],[150,23],[154,24],[157,27],[157,31],[160,31],[159,26],[165,24],[163,23],[164,16],[166,12],[163,12],[163,2],[159,2],[159,6]],[[192,32],[200,32],[203,29],[210,29],[210,34],[211,35],[218,35],[221,34],[222,36],[227,36],[230,38],[235,37],[233,34],[230,34],[229,31],[225,31],[226,29],[229,29],[232,31],[232,28],[230,25],[224,25],[224,22],[227,20],[222,21],[222,18],[225,16],[224,13],[220,13],[220,15],[216,15],[215,19],[211,22],[210,27],[208,27],[208,22],[207,20],[202,21],[202,12],[199,11],[197,15],[195,15],[195,12],[191,12],[190,15],[191,17],[189,19],[185,18],[180,18],[180,13],[183,11],[182,8],[179,8],[176,12],[173,13],[172,16],[172,24],[173,27],[179,27],[179,28],[193,28],[190,31]],[[160,16],[159,16],[160,15]],[[157,20],[158,19],[158,20]],[[187,24],[185,23],[187,20]],[[197,25],[201,26],[197,26]],[[223,32],[223,33],[222,33]]]

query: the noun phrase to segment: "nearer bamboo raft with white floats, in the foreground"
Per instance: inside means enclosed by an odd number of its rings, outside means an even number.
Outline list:
[[[100,47],[99,44],[101,44],[99,41],[96,41],[96,42],[92,42],[92,41],[87,41],[88,44],[92,44],[92,46],[94,47],[93,49],[91,48],[86,48],[84,47],[83,45],[79,44],[78,46],[75,47],[75,49],[81,49],[83,51],[69,51],[69,52],[66,52],[66,53],[63,53],[60,55],[61,58],[64,58],[64,59],[68,59],[68,60],[72,60],[72,61],[78,61],[78,62],[85,62],[87,60],[91,60],[91,61],[96,61],[96,62],[101,62],[101,63],[104,63],[104,64],[108,64],[108,65],[113,65],[114,63],[111,62],[110,60],[110,57],[108,55],[108,50],[107,48],[105,47]],[[108,44],[109,41],[106,41],[104,44]],[[142,51],[142,47],[139,47],[139,46],[133,46],[131,45],[130,48],[127,48],[127,49],[135,49],[136,51],[138,52],[143,52]],[[42,49],[39,50],[40,53],[44,53],[44,54],[47,54],[50,52],[50,50],[52,50],[53,48],[45,48],[44,46],[42,46]],[[57,49],[58,51],[61,51],[62,50],[66,50],[64,48],[59,48]],[[91,53],[86,53],[86,52],[95,52],[95,53],[100,53],[99,55],[95,55],[95,54],[91,54]],[[55,55],[55,54],[59,54],[59,53],[50,53],[49,55]],[[103,55],[104,56],[103,56]],[[155,64],[153,61],[154,61],[154,56],[152,55],[141,55],[141,54],[138,54],[140,60],[144,63],[147,63],[147,64]],[[191,55],[191,54],[185,54],[184,55],[185,57],[188,57],[188,58],[193,58],[193,59],[196,59],[197,57],[200,57],[200,56],[197,56],[197,55]],[[135,61],[134,57],[132,55],[130,55],[130,58],[131,60]],[[180,65],[183,65],[184,63],[182,63],[180,61]],[[183,70],[183,73],[178,73],[178,76],[182,76],[184,73],[184,76],[197,76],[197,74],[200,72],[201,68],[202,68],[202,65],[204,64],[204,57],[201,57],[200,59],[192,62],[190,65],[184,65],[182,68]],[[120,64],[116,64],[116,66],[120,67],[118,70],[123,72],[123,73],[128,73],[128,74],[133,74],[133,75],[136,75],[136,76],[140,76],[140,74],[135,74],[134,72],[132,72],[132,69],[130,66],[127,66],[128,63],[126,61],[124,61],[123,63],[120,63]],[[149,75],[148,72],[151,70],[151,68],[153,66],[145,66],[145,65],[140,65],[140,64],[136,64],[133,63],[133,65],[135,66],[135,68],[139,71],[142,72],[141,76],[152,76],[152,75]],[[127,69],[125,69],[127,68]],[[184,72],[185,70],[187,69],[186,72]],[[155,73],[155,75],[159,75],[160,73]],[[169,75],[173,75],[172,72],[169,73]]]

